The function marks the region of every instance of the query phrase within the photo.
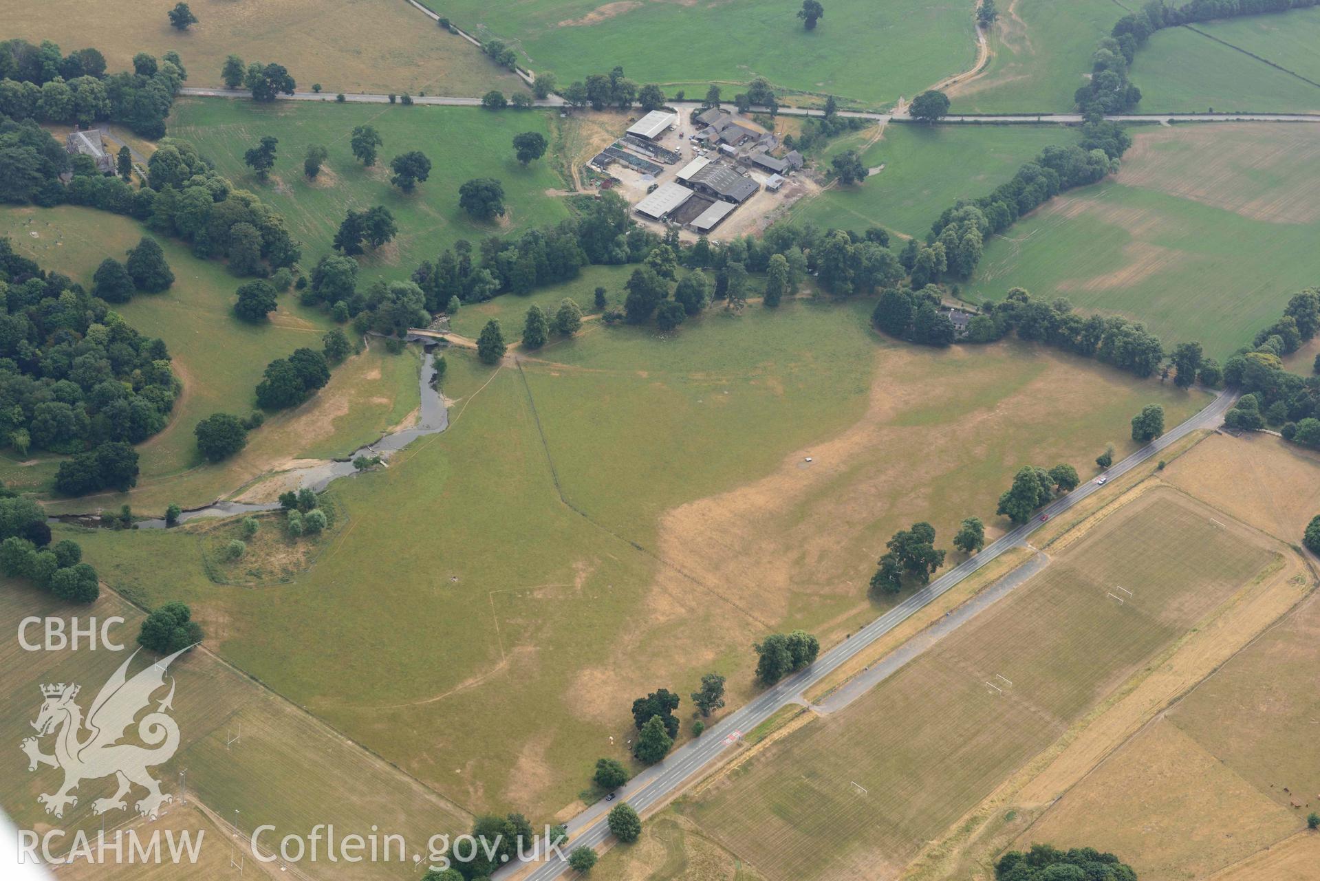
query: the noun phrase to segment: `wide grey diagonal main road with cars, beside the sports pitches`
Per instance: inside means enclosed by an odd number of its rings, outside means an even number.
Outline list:
[[[1224,413],[1236,400],[1236,392],[1220,392],[1205,409],[1150,442],[1122,462],[1111,466],[1106,473],[1110,479],[1121,477],[1192,431],[1199,429],[1218,427],[1224,422]],[[696,740],[688,741],[678,749],[673,750],[665,757],[664,761],[657,765],[652,765],[628,781],[627,786],[619,790],[616,799],[610,802],[597,802],[587,810],[574,816],[568,823],[570,847],[597,847],[605,841],[610,836],[605,815],[611,807],[619,802],[626,802],[638,812],[642,812],[652,805],[671,797],[682,789],[682,786],[688,782],[692,782],[702,775],[719,760],[721,754],[729,746],[738,743],[743,735],[768,719],[776,710],[791,703],[800,703],[808,688],[822,682],[825,677],[842,666],[849,658],[866,650],[866,648],[873,642],[909,619],[919,609],[933,601],[945,591],[950,590],[958,582],[979,570],[982,566],[986,566],[1005,551],[1023,545],[1027,541],[1027,537],[1040,528],[1040,524],[1043,522],[1041,516],[1057,517],[1073,505],[1100,491],[1101,487],[1089,480],[1067,496],[1060,496],[1036,512],[1028,522],[1005,533],[998,539],[987,545],[975,557],[954,566],[952,570],[931,582],[931,584],[923,587],[920,591],[916,591],[892,609],[863,626],[851,637],[843,640],[841,644],[822,654],[805,670],[793,674],[771,688],[767,688],[751,703],[739,707],[708,728]],[[503,878],[512,872],[525,868],[525,865],[508,865],[498,872],[496,877]],[[568,863],[560,859],[550,859],[537,865],[527,876],[525,881],[550,881],[550,878],[557,878],[566,870]]]

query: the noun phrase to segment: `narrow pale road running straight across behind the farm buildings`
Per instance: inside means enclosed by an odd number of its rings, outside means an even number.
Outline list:
[[[252,92],[242,88],[180,88],[180,95],[189,98],[238,98],[252,99]],[[395,100],[397,100],[397,95]],[[479,98],[446,98],[442,95],[412,95],[413,104],[426,104],[432,107],[480,107]],[[284,102],[337,102],[337,95],[327,92],[293,92],[292,95],[279,95]],[[345,94],[345,103],[348,104],[389,104],[389,95]],[[533,107],[565,108],[566,104],[558,95],[552,95],[544,100],[532,102]],[[700,102],[669,102],[667,107],[675,109],[693,111],[702,107]],[[768,112],[766,108],[752,108],[754,112]],[[781,116],[820,116],[821,111],[804,107],[780,107]],[[911,123],[907,113],[871,113],[866,111],[838,111],[840,116],[857,119],[873,119],[878,123]],[[1320,113],[1115,113],[1105,119],[1115,123],[1320,123]],[[1036,123],[1081,123],[1081,113],[1015,113],[1005,116],[987,116],[975,113],[962,113],[945,116],[941,124],[1036,124]]]

